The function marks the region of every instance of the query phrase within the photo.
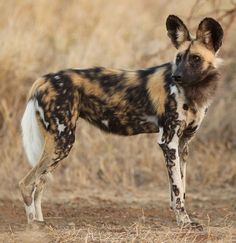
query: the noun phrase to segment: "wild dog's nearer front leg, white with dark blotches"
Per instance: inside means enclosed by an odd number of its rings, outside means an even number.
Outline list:
[[[184,226],[191,220],[184,206],[184,187],[181,178],[179,158],[179,137],[175,134],[169,143],[159,143],[166,160],[166,166],[170,181],[171,205],[176,215],[178,225]]]

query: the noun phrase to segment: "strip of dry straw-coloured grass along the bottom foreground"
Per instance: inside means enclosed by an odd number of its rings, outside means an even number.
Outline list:
[[[221,228],[219,231],[213,227],[208,228],[208,233],[186,232],[181,229],[175,231],[169,228],[160,231],[143,227],[142,224],[135,224],[125,228],[124,232],[102,232],[94,228],[82,228],[54,230],[49,228],[49,233],[26,231],[24,233],[4,235],[6,242],[232,242],[232,235],[229,228]],[[1,239],[1,238],[0,238]]]

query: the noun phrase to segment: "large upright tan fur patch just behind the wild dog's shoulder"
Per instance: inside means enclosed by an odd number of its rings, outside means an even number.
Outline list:
[[[165,112],[166,90],[164,83],[164,71],[159,71],[148,80],[147,88],[151,101],[158,114]]]

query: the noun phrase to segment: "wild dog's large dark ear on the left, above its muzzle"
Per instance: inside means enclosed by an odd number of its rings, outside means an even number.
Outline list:
[[[191,37],[186,25],[175,15],[169,15],[166,20],[166,29],[173,45],[178,49],[185,41],[190,41]]]

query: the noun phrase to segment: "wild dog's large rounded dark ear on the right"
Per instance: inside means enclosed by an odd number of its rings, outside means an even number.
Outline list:
[[[198,26],[197,40],[213,52],[217,52],[221,47],[223,35],[221,25],[212,18],[203,19]]]

